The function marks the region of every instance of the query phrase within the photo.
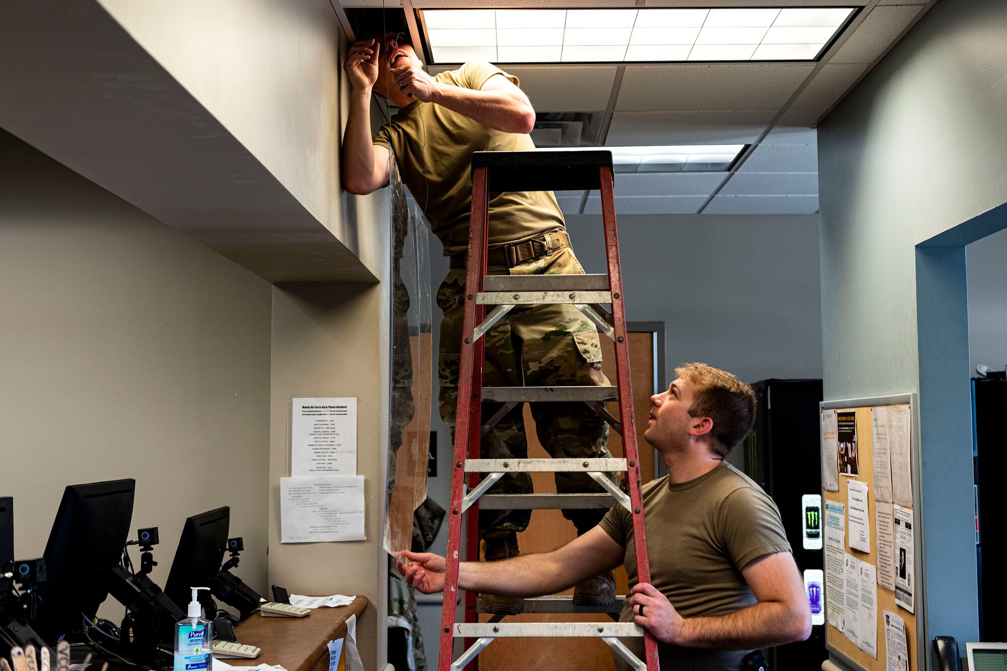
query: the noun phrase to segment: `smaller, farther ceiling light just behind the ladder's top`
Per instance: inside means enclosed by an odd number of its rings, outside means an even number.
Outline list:
[[[612,152],[615,172],[719,172],[727,170],[744,150],[743,144],[697,144],[651,147],[556,147],[539,151]]]

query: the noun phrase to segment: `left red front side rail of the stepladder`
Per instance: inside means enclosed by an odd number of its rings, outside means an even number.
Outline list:
[[[468,343],[461,344],[461,358],[458,371],[458,407],[455,414],[454,431],[454,458],[451,472],[451,502],[448,511],[448,537],[447,537],[447,557],[444,575],[444,608],[441,615],[440,632],[440,658],[438,668],[440,671],[450,671],[451,663],[454,659],[454,638],[451,636],[455,623],[458,605],[458,568],[461,559],[461,505],[462,505],[462,484],[466,476],[464,469],[465,459],[468,457],[469,443],[471,438],[471,426],[475,427],[475,435],[479,435],[480,422],[478,417],[472,421],[471,412],[473,405],[478,413],[478,403],[473,404],[472,383],[475,380],[475,356],[479,355],[480,361],[479,380],[481,381],[481,349],[476,352],[476,346],[471,342],[471,333],[475,330],[477,321],[478,306],[474,300],[474,294],[481,288],[482,279],[480,275],[485,274],[485,245],[488,227],[488,213],[486,192],[486,171],[485,169],[475,170],[472,174],[472,211],[468,229],[468,261],[465,278],[465,307],[462,321],[462,334],[468,333]],[[468,296],[473,297],[468,300]],[[482,339],[479,339],[482,342]],[[480,385],[481,386],[481,385]],[[478,398],[474,399],[478,401]],[[476,449],[478,449],[478,442]],[[474,474],[477,482],[478,474]],[[471,476],[469,482],[472,482]],[[477,520],[477,518],[475,518]],[[478,543],[476,534],[475,543]],[[471,546],[471,538],[467,539],[467,545]],[[476,545],[476,547],[478,547]],[[474,603],[473,603],[474,606]],[[473,608],[474,611],[474,608]]]

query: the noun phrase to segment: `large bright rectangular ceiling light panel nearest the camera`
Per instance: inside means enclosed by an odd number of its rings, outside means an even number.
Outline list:
[[[815,60],[853,7],[425,9],[432,62]]]

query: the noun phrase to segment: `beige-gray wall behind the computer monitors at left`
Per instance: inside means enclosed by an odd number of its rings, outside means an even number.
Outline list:
[[[185,518],[229,505],[264,589],[270,285],[0,131],[0,286],[17,555],[42,554],[66,485],[135,478],[155,581]]]

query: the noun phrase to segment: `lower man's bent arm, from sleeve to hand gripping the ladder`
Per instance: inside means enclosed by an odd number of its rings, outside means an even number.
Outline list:
[[[741,569],[755,606],[715,618],[683,618],[668,597],[645,582],[633,586],[633,621],[664,643],[687,648],[751,650],[804,641],[812,614],[804,581],[789,552],[765,554]],[[638,607],[643,608],[637,615]]]

